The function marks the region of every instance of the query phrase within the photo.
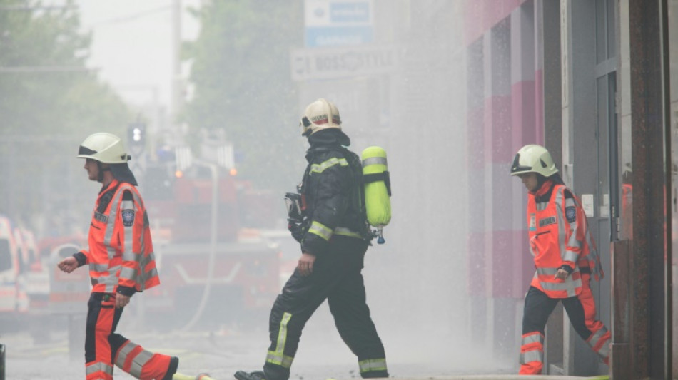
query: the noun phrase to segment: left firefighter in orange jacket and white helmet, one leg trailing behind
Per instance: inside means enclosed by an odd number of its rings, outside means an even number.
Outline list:
[[[113,379],[113,364],[137,379],[209,380],[206,374],[176,374],[176,356],[146,351],[115,332],[133,294],[160,284],[148,215],[120,138],[94,133],[80,145],[78,157],[85,159],[89,179],[103,186],[92,212],[89,249],[57,265],[66,273],[89,265],[92,294],[85,335],[86,380]]]

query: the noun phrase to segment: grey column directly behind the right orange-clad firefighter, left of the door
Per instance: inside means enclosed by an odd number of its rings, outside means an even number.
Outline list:
[[[596,88],[596,4],[592,1],[561,1],[562,55],[562,144],[563,180],[577,195],[593,194],[599,199],[597,170],[597,88]],[[598,207],[587,215],[597,236]],[[603,244],[602,242],[598,242]],[[607,244],[607,243],[604,243]],[[594,285],[594,283],[592,283]],[[585,376],[597,373],[597,357],[582,341],[570,320],[563,322],[565,374]]]

